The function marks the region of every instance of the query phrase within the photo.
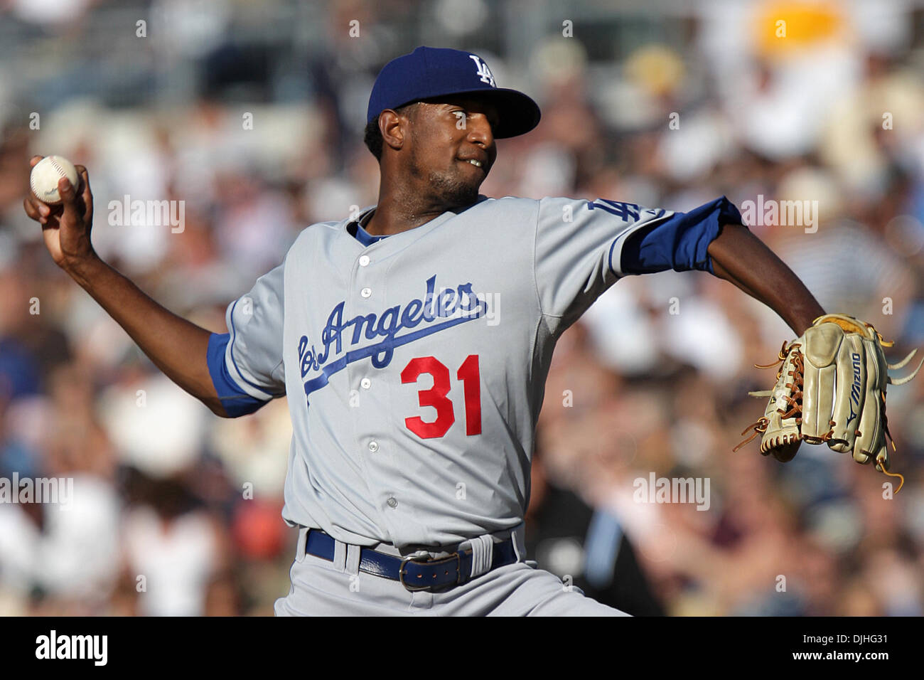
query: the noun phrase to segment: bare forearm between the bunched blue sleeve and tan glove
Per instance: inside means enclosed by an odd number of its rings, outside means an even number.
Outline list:
[[[824,314],[821,304],[763,241],[736,223],[721,226],[707,249],[712,273],[760,300],[801,336]]]

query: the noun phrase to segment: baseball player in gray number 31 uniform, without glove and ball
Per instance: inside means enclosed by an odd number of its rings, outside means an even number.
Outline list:
[[[619,278],[699,269],[801,334],[819,303],[724,197],[688,212],[489,198],[495,140],[539,107],[478,55],[419,47],[375,80],[378,203],[304,229],[227,308],[171,314],[91,245],[90,179],[28,215],[65,269],[215,414],[286,395],[283,517],[297,525],[277,615],[619,615],[525,554],[529,464],[555,341]],[[38,157],[32,159],[32,164]],[[78,192],[79,190],[79,192]]]

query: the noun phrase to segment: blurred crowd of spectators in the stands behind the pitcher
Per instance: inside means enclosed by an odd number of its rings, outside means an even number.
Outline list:
[[[817,230],[748,226],[827,311],[895,340],[893,360],[924,346],[919,2],[575,2],[531,21],[486,0],[117,5],[0,1],[0,477],[74,479],[67,510],[0,503],[0,614],[272,614],[295,539],[285,399],[219,419],[164,378],[55,267],[22,209],[30,155],[88,167],[98,253],[225,332],[226,304],[301,229],[375,203],[361,130],[384,62],[470,49],[542,109],[498,142],[482,193],[817,202]],[[185,201],[184,228],[113,224],[126,195]],[[924,377],[889,390],[894,498],[891,477],[827,447],[733,453],[763,413],[748,390],[775,374],[753,365],[792,337],[706,273],[618,281],[554,354],[543,479],[612,520],[665,613],[919,615]],[[652,472],[708,478],[710,509],[638,502]],[[597,552],[578,545],[561,575]]]

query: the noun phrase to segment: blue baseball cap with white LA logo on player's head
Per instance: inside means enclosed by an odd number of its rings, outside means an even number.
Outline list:
[[[539,125],[540,111],[526,94],[494,84],[491,68],[478,55],[443,47],[418,47],[384,65],[369,96],[366,122],[386,108],[448,94],[470,94],[497,107],[497,139],[516,137]]]

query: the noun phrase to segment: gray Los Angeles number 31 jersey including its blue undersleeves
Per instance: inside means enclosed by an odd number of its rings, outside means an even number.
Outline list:
[[[513,529],[555,340],[626,274],[711,271],[739,221],[724,197],[482,196],[388,237],[314,224],[228,306],[213,382],[229,415],[288,397],[290,524],[408,550]]]

